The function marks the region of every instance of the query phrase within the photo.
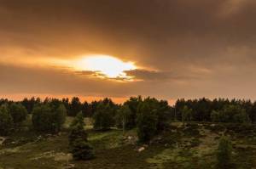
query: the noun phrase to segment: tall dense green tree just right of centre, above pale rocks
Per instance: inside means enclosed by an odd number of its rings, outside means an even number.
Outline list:
[[[148,142],[157,132],[157,111],[152,109],[151,106],[149,100],[144,100],[138,108],[137,136],[141,143]]]

